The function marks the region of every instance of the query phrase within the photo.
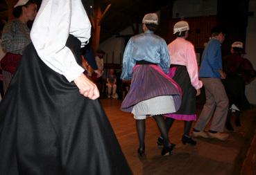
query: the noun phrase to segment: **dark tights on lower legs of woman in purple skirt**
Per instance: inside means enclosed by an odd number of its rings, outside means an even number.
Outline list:
[[[153,116],[155,122],[157,122],[157,127],[160,130],[162,138],[164,138],[164,147],[171,147],[171,143],[168,137],[168,130],[166,122],[161,115]],[[145,149],[145,131],[146,131],[146,121],[145,120],[136,120],[136,128],[139,137],[139,149]]]

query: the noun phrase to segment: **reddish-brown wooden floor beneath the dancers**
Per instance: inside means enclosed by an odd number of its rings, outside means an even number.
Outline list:
[[[160,156],[157,147],[159,136],[153,118],[146,120],[146,158],[137,157],[138,139],[135,120],[130,113],[120,111],[121,100],[101,99],[101,104],[117,135],[123,153],[134,174],[171,174],[171,175],[224,175],[240,174],[241,164],[255,134],[256,109],[242,113],[242,127],[235,128],[225,142],[195,138],[196,146],[182,145],[182,121],[176,121],[171,128],[169,138],[176,143],[171,156]],[[200,113],[200,107],[198,109]],[[207,129],[206,129],[207,130]]]

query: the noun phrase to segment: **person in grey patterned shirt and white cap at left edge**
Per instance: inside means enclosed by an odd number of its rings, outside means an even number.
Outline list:
[[[1,46],[6,56],[1,59],[3,69],[3,90],[6,93],[10,80],[14,75],[23,50],[31,43],[28,21],[33,21],[37,15],[37,4],[33,0],[19,0],[14,6],[13,16],[15,19],[8,21],[3,28]]]

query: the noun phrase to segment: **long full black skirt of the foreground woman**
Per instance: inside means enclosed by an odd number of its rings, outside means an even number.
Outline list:
[[[0,104],[0,174],[132,174],[99,101],[46,66],[33,44]]]

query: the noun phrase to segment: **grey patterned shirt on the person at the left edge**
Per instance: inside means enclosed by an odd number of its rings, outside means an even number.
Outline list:
[[[3,28],[1,46],[8,53],[21,54],[24,48],[31,43],[28,26],[19,19],[13,19]]]

